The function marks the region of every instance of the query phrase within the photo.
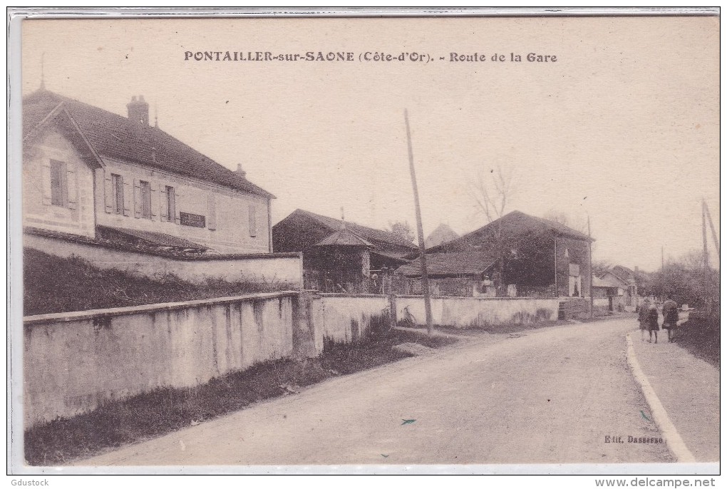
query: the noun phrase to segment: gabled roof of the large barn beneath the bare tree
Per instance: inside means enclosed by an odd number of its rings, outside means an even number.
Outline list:
[[[447,243],[442,243],[439,246],[433,246],[427,251],[443,251],[445,249],[457,249],[459,246],[467,245],[478,239],[485,238],[486,236],[493,233],[497,229],[497,226],[502,226],[503,235],[517,236],[518,234],[524,233],[527,230],[542,230],[550,231],[557,235],[567,236],[569,238],[575,238],[583,241],[595,241],[593,238],[580,233],[577,230],[572,229],[566,225],[562,225],[560,222],[550,221],[543,219],[542,217],[534,217],[529,214],[525,214],[521,211],[512,211],[499,219],[490,222],[477,230],[465,234],[461,238],[454,239]],[[484,243],[482,243],[484,244]]]

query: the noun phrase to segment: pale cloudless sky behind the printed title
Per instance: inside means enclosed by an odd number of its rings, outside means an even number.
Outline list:
[[[354,60],[185,60],[205,51]],[[144,95],[161,129],[276,195],[273,223],[414,226],[406,109],[425,235],[486,224],[473,182],[498,166],[506,211],[590,217],[594,259],[656,270],[662,246],[701,249],[702,198],[719,233],[713,17],[26,20],[22,53],[23,94],[42,66],[47,89],[122,115]]]

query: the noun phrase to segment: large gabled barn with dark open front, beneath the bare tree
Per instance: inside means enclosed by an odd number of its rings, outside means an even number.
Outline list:
[[[482,280],[497,295],[589,296],[590,249],[587,235],[558,222],[513,211],[496,221],[439,246],[427,249],[433,272],[441,277]],[[451,259],[446,255],[451,254]],[[412,254],[411,258],[416,258]],[[397,270],[417,277],[419,260]],[[469,273],[476,264],[479,275]],[[435,276],[437,276],[435,275]]]

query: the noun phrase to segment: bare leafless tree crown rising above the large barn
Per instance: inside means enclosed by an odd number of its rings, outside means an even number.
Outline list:
[[[517,193],[517,179],[512,167],[502,169],[497,165],[489,170],[480,169],[475,182],[470,186],[470,195],[474,199],[477,210],[493,222],[505,215],[507,204]]]

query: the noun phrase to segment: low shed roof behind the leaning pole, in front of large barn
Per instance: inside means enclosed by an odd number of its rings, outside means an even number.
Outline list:
[[[427,253],[427,275],[430,277],[480,275],[492,267],[496,261],[496,258],[483,254],[481,251]],[[398,267],[396,273],[402,273],[407,277],[420,277],[422,275],[421,258]]]

